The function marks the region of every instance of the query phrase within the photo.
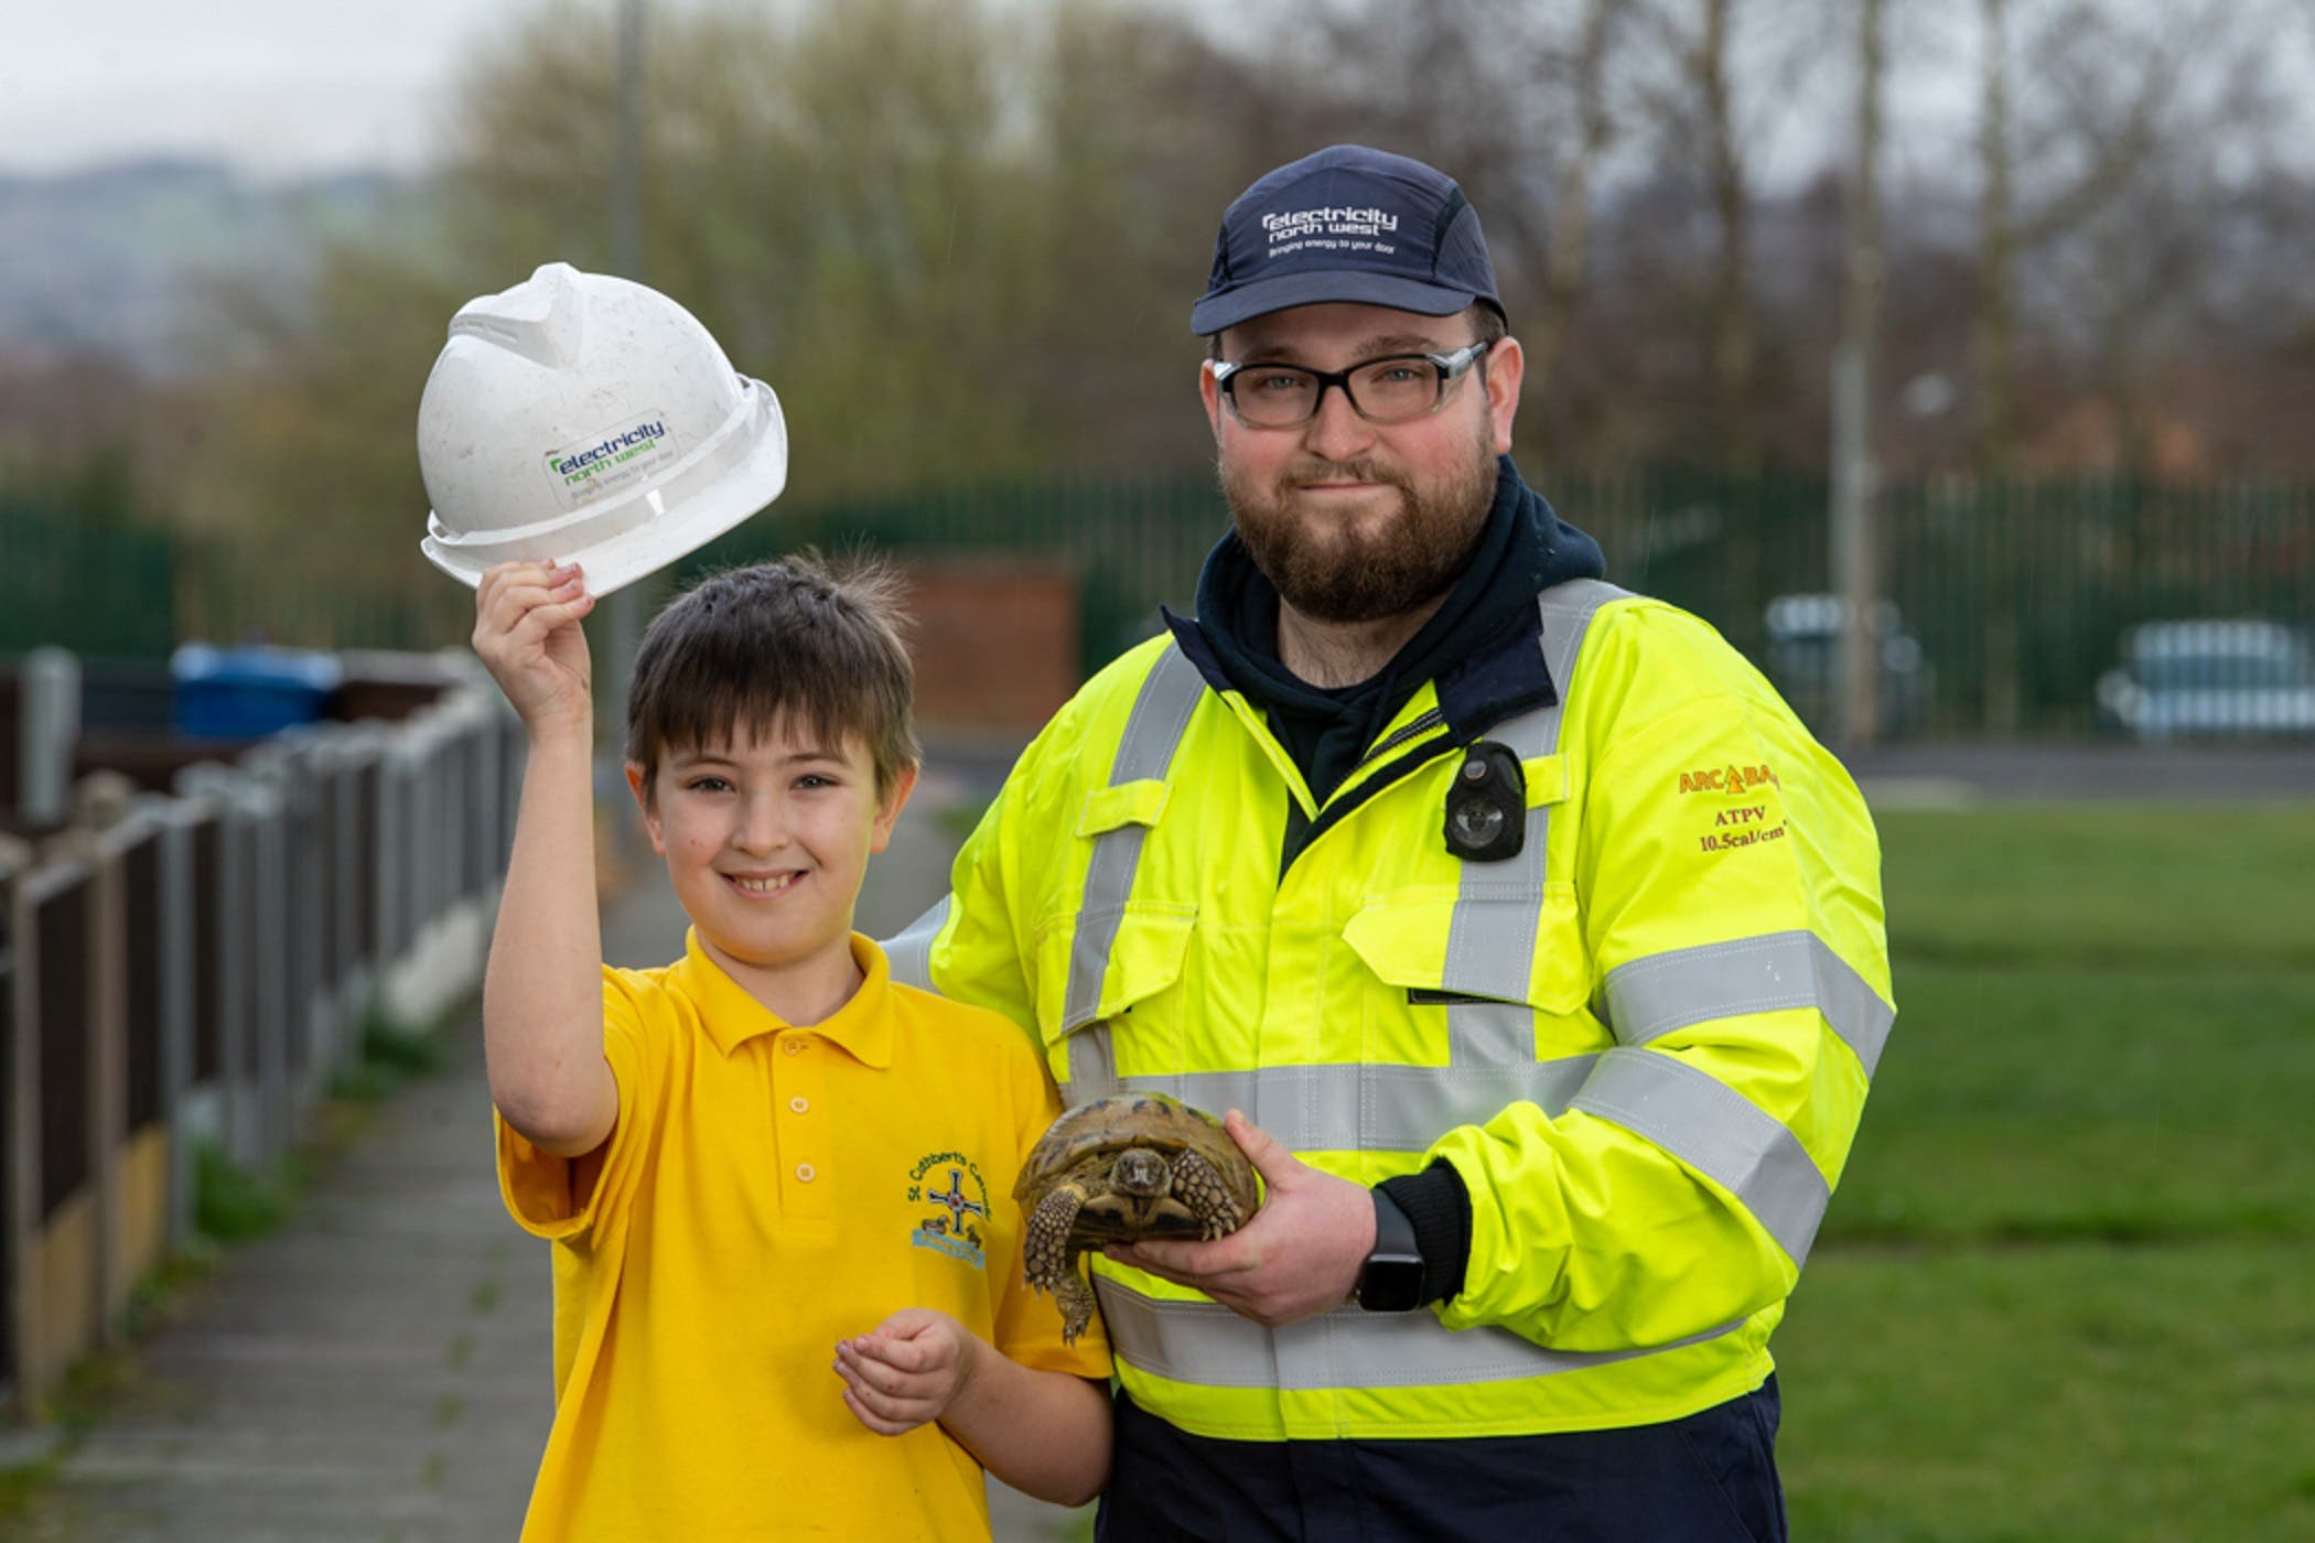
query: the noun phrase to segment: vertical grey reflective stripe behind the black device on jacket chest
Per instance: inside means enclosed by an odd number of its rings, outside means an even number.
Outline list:
[[[1549,756],[1560,747],[1560,717],[1567,685],[1593,613],[1625,590],[1597,578],[1574,578],[1551,585],[1537,597],[1542,611],[1544,669],[1551,673],[1553,701],[1498,724],[1489,736],[1509,745],[1523,761]],[[1526,1002],[1535,972],[1535,930],[1544,898],[1544,849],[1551,840],[1551,805],[1528,810],[1528,840],[1507,863],[1463,863],[1454,918],[1447,923],[1449,990],[1502,1002]],[[1447,1009],[1449,1060],[1463,1064],[1502,1064],[1535,1055],[1535,1016],[1500,1009],[1454,1004]]]

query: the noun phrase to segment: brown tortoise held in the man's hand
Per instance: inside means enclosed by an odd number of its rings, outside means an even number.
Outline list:
[[[1076,1256],[1141,1238],[1225,1238],[1255,1215],[1255,1168],[1222,1122],[1162,1092],[1130,1092],[1063,1110],[1037,1138],[1014,1201],[1021,1275],[1051,1291],[1070,1344],[1093,1319]]]

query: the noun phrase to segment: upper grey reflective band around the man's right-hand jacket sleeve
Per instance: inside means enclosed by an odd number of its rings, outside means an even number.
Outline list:
[[[1607,974],[1609,1025],[1625,1046],[1644,1046],[1692,1022],[1787,1006],[1824,1013],[1873,1076],[1896,1009],[1815,932],[1674,948]]]

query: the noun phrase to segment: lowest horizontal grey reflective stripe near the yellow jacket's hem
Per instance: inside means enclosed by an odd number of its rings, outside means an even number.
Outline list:
[[[1153,1298],[1095,1277],[1102,1323],[1118,1360],[1206,1388],[1417,1388],[1516,1381],[1581,1372],[1685,1349],[1743,1326],[1630,1351],[1546,1351],[1507,1328],[1442,1328],[1428,1312],[1336,1307],[1317,1319],[1262,1328],[1215,1302]]]

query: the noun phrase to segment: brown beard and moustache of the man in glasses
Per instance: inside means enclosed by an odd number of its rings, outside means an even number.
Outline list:
[[[1259,483],[1220,460],[1222,497],[1248,555],[1285,604],[1320,622],[1377,622],[1438,599],[1470,564],[1495,507],[1495,449],[1482,419],[1470,451],[1445,474],[1417,481],[1373,458],[1306,456]],[[1396,493],[1396,509],[1350,516],[1296,509],[1324,481],[1368,481]]]

